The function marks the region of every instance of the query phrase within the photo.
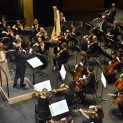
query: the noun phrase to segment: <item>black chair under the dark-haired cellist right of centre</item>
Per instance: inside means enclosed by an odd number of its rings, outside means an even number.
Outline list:
[[[92,90],[89,90],[88,92],[84,93],[84,97],[86,98],[87,95],[92,95],[95,102],[97,103],[97,89],[98,89],[98,83],[99,81],[95,81],[95,87]]]

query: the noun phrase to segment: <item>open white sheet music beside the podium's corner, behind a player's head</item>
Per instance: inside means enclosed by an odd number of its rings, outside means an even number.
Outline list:
[[[37,91],[42,91],[44,88],[46,88],[48,91],[51,91],[51,84],[50,84],[50,80],[46,80],[44,82],[40,82],[38,84],[34,85],[34,89]]]

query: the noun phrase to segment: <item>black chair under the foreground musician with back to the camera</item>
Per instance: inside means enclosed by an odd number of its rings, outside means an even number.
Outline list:
[[[36,123],[46,123],[47,120],[51,119],[51,114],[49,110],[40,111],[35,114]]]

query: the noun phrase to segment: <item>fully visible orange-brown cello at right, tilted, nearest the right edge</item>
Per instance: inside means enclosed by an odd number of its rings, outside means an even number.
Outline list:
[[[107,76],[111,76],[114,74],[114,69],[116,69],[119,65],[119,61],[117,59],[114,59],[111,61],[111,65],[107,66],[105,69],[104,69],[104,74],[107,75]]]

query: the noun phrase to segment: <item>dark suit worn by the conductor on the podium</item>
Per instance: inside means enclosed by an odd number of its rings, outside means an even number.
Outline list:
[[[15,75],[15,79],[14,79],[14,85],[17,85],[18,78],[21,79],[20,86],[23,85],[25,70],[26,70],[26,59],[30,55],[31,55],[30,53],[28,55],[26,55],[22,51],[16,50],[16,54],[15,54],[16,75]]]

